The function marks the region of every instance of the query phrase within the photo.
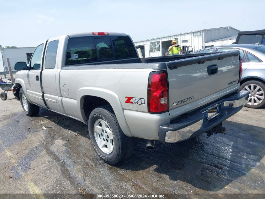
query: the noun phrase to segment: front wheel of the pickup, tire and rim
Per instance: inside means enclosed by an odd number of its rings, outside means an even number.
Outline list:
[[[40,107],[38,105],[29,103],[22,88],[19,91],[19,98],[21,106],[27,116],[34,116],[40,112]]]

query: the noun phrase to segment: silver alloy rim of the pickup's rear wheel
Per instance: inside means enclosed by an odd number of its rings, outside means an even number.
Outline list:
[[[109,125],[102,119],[98,119],[94,124],[94,136],[98,147],[104,153],[111,153],[114,147],[114,138]]]

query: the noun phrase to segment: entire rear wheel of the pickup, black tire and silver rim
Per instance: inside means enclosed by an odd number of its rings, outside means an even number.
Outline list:
[[[117,164],[133,151],[133,137],[126,136],[109,106],[95,108],[88,119],[88,132],[98,156],[108,164]]]

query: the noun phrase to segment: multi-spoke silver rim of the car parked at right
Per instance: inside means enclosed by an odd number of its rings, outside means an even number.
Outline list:
[[[249,105],[258,105],[264,100],[264,91],[256,84],[246,85],[242,90],[247,90],[250,92],[246,102]]]

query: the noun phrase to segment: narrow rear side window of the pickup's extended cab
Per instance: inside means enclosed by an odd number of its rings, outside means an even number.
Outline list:
[[[54,69],[59,40],[50,41],[45,56],[45,69]]]

